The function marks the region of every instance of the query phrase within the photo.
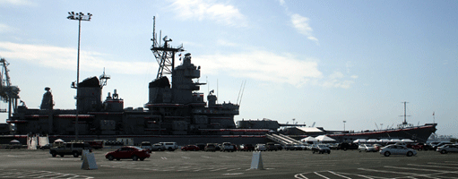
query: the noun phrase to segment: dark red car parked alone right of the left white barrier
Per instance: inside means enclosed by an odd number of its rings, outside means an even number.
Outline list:
[[[144,158],[150,158],[150,153],[147,149],[142,149],[135,146],[125,146],[119,148],[115,151],[108,152],[105,154],[105,158],[109,160],[117,159],[120,160],[121,158],[132,158],[133,160],[144,160]]]

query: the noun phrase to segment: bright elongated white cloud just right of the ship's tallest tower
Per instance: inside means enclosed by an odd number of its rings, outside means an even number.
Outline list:
[[[224,72],[235,77],[286,82],[298,87],[311,79],[322,77],[322,72],[314,61],[299,60],[292,55],[277,55],[267,51],[194,56],[193,61],[195,64],[205,64],[202,68],[204,73]]]

